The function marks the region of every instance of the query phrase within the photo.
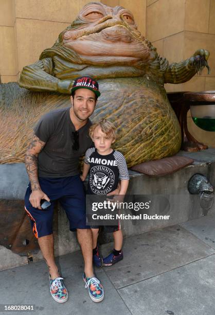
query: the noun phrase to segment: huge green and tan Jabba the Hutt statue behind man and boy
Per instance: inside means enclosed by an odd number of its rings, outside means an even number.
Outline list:
[[[181,129],[164,83],[188,81],[207,66],[208,57],[208,51],[200,49],[191,58],[169,65],[141,36],[129,10],[101,3],[85,5],[40,60],[23,68],[19,85],[37,93],[20,89],[24,117],[15,133],[15,149],[2,163],[23,160],[35,122],[52,109],[69,106],[74,79],[83,75],[99,81],[101,97],[92,120],[105,117],[114,122],[115,148],[129,167],[174,155],[181,147]],[[15,113],[17,107],[16,102]]]

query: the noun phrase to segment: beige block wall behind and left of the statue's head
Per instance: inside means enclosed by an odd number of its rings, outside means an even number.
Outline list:
[[[22,68],[37,61],[88,2],[0,0],[1,81],[17,81]],[[104,0],[102,3],[131,10],[139,30],[146,33],[146,0]]]

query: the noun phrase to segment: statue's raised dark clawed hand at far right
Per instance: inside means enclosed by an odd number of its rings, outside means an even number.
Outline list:
[[[189,66],[194,67],[196,70],[196,73],[199,72],[201,75],[202,70],[204,67],[208,69],[208,74],[210,73],[210,67],[208,66],[207,60],[210,56],[210,53],[208,50],[205,49],[198,49],[195,51],[192,57],[189,58]]]

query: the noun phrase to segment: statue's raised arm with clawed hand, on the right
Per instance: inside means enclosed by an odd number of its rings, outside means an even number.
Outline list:
[[[171,63],[164,74],[165,83],[184,83],[190,80],[196,73],[202,72],[204,66],[208,68],[207,60],[209,51],[198,49],[193,56],[179,63]]]

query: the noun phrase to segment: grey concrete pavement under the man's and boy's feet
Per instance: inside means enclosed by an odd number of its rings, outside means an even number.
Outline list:
[[[103,256],[112,247],[103,244]],[[47,267],[38,261],[0,272],[0,304],[33,304],[32,314],[40,315],[215,314],[215,214],[125,238],[123,252],[118,264],[96,269],[105,288],[101,303],[89,299],[77,251],[57,258],[69,292],[66,303],[51,298]]]

